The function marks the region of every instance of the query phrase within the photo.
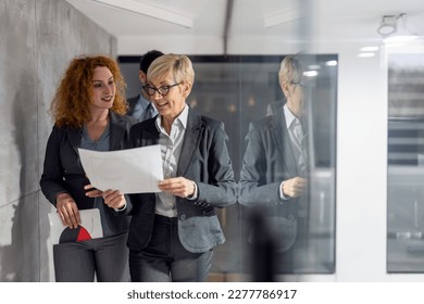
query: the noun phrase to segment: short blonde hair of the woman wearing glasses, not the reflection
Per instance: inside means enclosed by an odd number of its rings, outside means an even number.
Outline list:
[[[164,54],[157,58],[147,71],[149,81],[158,80],[163,76],[172,74],[175,84],[185,83],[192,85],[195,83],[195,71],[192,63],[186,55]]]

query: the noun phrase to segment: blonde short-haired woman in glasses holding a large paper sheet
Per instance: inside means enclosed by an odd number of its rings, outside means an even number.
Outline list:
[[[145,87],[159,111],[136,124],[130,147],[160,144],[162,192],[132,194],[128,236],[133,281],[205,281],[212,252],[225,241],[215,208],[236,203],[236,182],[222,122],[189,109],[191,61],[165,54]]]

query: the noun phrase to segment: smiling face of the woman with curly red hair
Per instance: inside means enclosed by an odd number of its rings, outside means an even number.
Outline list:
[[[115,100],[116,86],[111,71],[105,66],[98,66],[92,75],[92,98],[90,110],[109,110]]]

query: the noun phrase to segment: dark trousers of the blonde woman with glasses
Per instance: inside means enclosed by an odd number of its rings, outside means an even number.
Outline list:
[[[187,251],[178,238],[177,218],[154,217],[153,232],[146,249],[129,252],[133,282],[196,282],[208,279],[212,250]]]

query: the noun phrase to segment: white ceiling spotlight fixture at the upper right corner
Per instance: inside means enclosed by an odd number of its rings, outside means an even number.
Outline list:
[[[383,36],[383,42],[408,42],[417,38],[407,25],[407,14],[384,15],[377,33]]]

